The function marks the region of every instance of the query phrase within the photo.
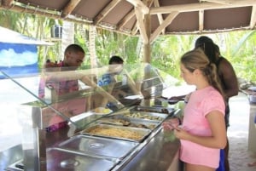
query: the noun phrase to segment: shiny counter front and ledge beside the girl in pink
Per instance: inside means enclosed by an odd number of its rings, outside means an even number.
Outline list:
[[[131,161],[116,170],[122,171],[179,171],[182,168],[178,159],[179,140],[166,141],[163,130],[160,131],[148,142],[144,148],[131,158]]]

